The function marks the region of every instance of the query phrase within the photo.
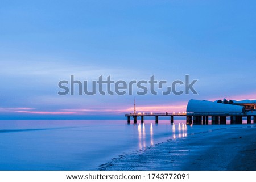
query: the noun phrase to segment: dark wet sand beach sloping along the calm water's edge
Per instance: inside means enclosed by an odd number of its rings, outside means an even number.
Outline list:
[[[234,125],[123,153],[98,170],[256,170],[256,125]]]

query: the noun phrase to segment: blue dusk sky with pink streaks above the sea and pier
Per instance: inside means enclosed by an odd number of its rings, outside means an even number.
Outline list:
[[[255,1],[1,1],[0,119],[125,118],[183,112],[190,99],[256,99]],[[109,75],[197,94],[58,95]],[[112,86],[114,90],[114,86]],[[183,86],[177,90],[184,89]]]

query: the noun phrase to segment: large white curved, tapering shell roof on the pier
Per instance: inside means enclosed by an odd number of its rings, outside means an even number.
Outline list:
[[[207,100],[189,100],[187,113],[245,113],[245,107],[214,103]]]

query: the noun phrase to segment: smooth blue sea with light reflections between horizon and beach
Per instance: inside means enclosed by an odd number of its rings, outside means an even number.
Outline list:
[[[184,120],[174,125],[166,120],[0,120],[0,170],[98,170],[120,155],[230,126],[189,126]]]

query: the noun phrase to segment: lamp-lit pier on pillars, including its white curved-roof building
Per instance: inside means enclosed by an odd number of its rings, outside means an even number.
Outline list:
[[[215,103],[207,100],[190,100],[187,105],[187,112],[179,113],[136,113],[134,100],[134,113],[126,114],[127,123],[130,124],[131,118],[133,123],[137,123],[137,119],[141,118],[141,123],[144,123],[144,117],[154,117],[155,123],[159,122],[159,117],[169,117],[171,124],[174,123],[174,117],[185,117],[187,125],[208,125],[209,120],[212,125],[227,124],[227,119],[230,119],[230,124],[242,124],[243,118],[246,117],[247,124],[251,124],[251,120],[256,124],[256,103],[247,104],[234,103],[223,104]]]

